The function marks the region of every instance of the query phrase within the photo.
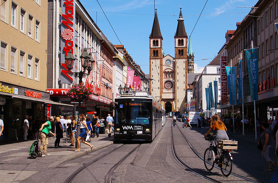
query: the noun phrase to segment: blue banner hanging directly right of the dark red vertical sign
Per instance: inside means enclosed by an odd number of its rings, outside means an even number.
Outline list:
[[[226,66],[227,82],[229,87],[230,105],[236,105],[236,67]]]

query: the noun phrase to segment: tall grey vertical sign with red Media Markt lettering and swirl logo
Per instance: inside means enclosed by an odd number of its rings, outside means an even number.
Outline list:
[[[74,76],[66,67],[65,58],[71,50],[75,55],[75,0],[63,0],[61,5],[61,53],[60,53],[60,82],[61,84],[75,83]],[[77,61],[78,63],[78,61]],[[75,71],[75,63],[72,71]]]

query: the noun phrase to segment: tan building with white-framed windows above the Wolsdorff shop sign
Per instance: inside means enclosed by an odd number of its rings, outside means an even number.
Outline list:
[[[0,117],[4,138],[12,140],[21,138],[24,116],[42,120],[49,102],[47,2],[1,1],[0,14]]]

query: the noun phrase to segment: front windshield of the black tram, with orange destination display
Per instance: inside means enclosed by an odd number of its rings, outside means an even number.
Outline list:
[[[152,103],[144,101],[119,102],[116,108],[116,124],[151,124]]]

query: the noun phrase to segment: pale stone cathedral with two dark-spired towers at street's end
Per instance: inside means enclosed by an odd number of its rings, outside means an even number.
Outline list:
[[[180,8],[181,9],[181,8]],[[187,34],[184,27],[182,10],[177,20],[174,36],[175,56],[164,55],[162,34],[159,28],[157,12],[150,33],[150,93],[161,101],[166,113],[179,111],[185,113],[185,93],[188,87],[188,73],[194,73],[194,53],[191,40],[187,46]],[[191,83],[189,83],[191,84]]]

